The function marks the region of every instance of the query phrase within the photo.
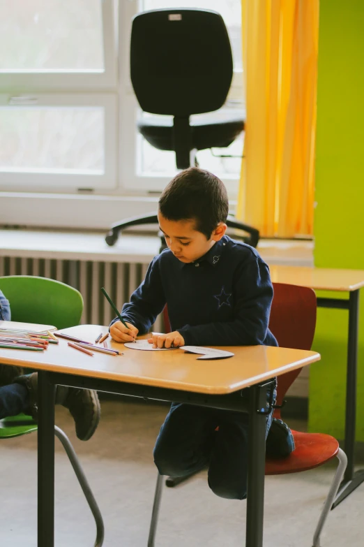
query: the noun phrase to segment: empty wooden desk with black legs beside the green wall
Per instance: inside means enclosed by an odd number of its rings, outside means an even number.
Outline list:
[[[319,307],[349,310],[344,440],[344,451],[347,455],[347,469],[344,474],[342,485],[340,486],[340,496],[333,504],[334,508],[364,481],[364,470],[354,474],[359,290],[364,286],[364,270],[301,268],[295,266],[272,266],[270,270],[271,279],[275,283],[305,286],[317,291],[349,293],[349,298],[317,298],[317,305]]]

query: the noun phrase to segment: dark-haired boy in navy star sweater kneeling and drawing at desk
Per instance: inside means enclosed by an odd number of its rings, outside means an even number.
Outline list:
[[[211,173],[190,168],[174,177],[158,210],[168,249],[153,259],[144,282],[123,305],[128,328],[116,319],[111,323],[114,340],[130,342],[147,333],[167,304],[172,333],[153,335],[154,347],[278,345],[268,330],[273,298],[268,266],[255,249],[225,235],[228,207],[225,186]],[[271,415],[267,433],[270,425]],[[248,414],[172,403],[154,461],[160,474],[170,476],[208,465],[216,495],[244,499],[247,442]]]

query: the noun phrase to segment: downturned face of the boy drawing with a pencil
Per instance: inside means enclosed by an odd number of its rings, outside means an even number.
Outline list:
[[[215,228],[211,238],[195,229],[195,220],[167,220],[158,212],[159,227],[165,235],[165,242],[181,262],[195,262],[219,241],[226,231],[222,222]]]

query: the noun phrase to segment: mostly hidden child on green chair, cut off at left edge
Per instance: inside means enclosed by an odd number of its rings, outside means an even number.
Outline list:
[[[10,321],[10,305],[0,291],[0,321]],[[0,419],[24,413],[37,418],[38,374],[22,375],[20,367],[0,364]],[[100,421],[100,402],[96,391],[57,386],[56,404],[66,407],[75,420],[77,437],[90,439]]]

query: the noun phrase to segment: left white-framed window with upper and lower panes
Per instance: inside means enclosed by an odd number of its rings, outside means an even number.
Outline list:
[[[112,0],[0,0],[1,189],[117,184]]]

